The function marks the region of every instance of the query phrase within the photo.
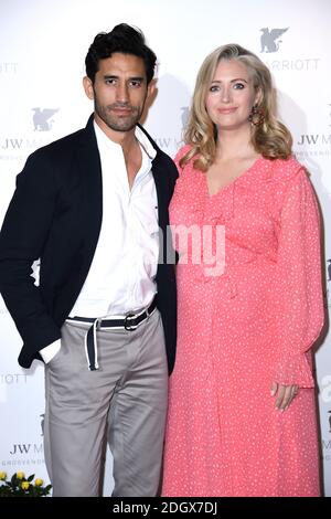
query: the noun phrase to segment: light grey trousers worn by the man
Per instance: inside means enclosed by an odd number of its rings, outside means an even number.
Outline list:
[[[100,495],[106,442],[113,496],[156,496],[168,394],[160,314],[134,331],[98,330],[96,371],[85,356],[87,326],[66,321],[61,350],[45,368],[44,449],[53,496]]]

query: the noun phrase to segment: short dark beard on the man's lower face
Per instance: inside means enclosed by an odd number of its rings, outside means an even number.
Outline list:
[[[127,114],[117,115],[116,109],[128,110]],[[100,119],[114,131],[130,131],[139,121],[143,110],[140,106],[131,106],[128,103],[113,103],[111,105],[102,106],[95,99],[95,112]]]

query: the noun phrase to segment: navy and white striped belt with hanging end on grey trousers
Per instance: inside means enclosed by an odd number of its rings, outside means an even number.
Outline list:
[[[157,309],[157,297],[153,298],[152,303],[149,305],[148,308],[139,313],[128,311],[125,316],[116,316],[116,317],[68,317],[66,320],[75,321],[75,322],[83,322],[83,324],[90,324],[92,326],[88,328],[85,338],[84,338],[84,347],[85,353],[87,358],[88,369],[90,371],[95,371],[99,369],[98,366],[98,352],[97,352],[97,337],[96,332],[97,329],[100,328],[108,328],[113,330],[127,330],[134,331],[141,325],[146,319],[149,318]]]

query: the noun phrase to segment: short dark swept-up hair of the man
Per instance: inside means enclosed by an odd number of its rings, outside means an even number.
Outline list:
[[[156,54],[146,45],[145,35],[140,29],[120,23],[110,32],[97,34],[88,49],[85,66],[86,75],[92,83],[99,70],[99,61],[110,57],[115,52],[141,57],[145,63],[147,84],[151,82],[157,62]]]

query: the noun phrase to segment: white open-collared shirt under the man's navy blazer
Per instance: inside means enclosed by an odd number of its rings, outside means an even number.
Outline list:
[[[136,127],[141,167],[129,188],[120,145],[94,123],[103,173],[103,222],[94,258],[70,317],[120,316],[147,307],[157,293],[158,198],[151,172],[156,150]],[[49,362],[61,339],[40,353]]]

